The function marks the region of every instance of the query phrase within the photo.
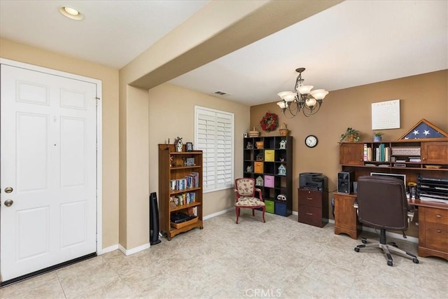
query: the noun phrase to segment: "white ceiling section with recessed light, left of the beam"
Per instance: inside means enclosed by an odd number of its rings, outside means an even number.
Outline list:
[[[121,69],[207,2],[0,0],[0,37]]]

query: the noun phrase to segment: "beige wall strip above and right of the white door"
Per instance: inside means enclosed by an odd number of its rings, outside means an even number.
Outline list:
[[[118,70],[6,39],[0,57],[102,81],[103,248],[118,244]]]

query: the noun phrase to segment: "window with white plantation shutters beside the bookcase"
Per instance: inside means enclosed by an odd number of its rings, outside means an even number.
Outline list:
[[[232,188],[234,114],[195,106],[195,148],[204,151],[204,192]]]

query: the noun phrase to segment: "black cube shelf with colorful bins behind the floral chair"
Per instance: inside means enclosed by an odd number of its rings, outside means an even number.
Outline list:
[[[259,143],[262,148],[256,146]],[[293,137],[248,137],[244,138],[243,146],[244,177],[258,179],[258,182],[262,180],[262,185],[257,184],[257,188],[262,190],[266,211],[281,216],[292,214]],[[286,200],[279,200],[279,197]]]

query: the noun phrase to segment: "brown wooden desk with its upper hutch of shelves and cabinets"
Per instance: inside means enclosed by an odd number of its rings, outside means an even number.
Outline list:
[[[388,148],[379,160],[368,159],[365,152]],[[389,153],[387,155],[387,153]],[[370,161],[372,160],[372,161]],[[405,174],[407,183],[419,176],[448,178],[448,141],[414,139],[395,142],[355,142],[339,144],[339,164],[343,172],[354,172],[355,181],[370,172]],[[335,234],[357,239],[362,226],[353,203],[356,194],[335,193]],[[418,209],[419,256],[438,256],[448,260],[448,201],[409,200]]]

